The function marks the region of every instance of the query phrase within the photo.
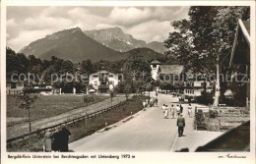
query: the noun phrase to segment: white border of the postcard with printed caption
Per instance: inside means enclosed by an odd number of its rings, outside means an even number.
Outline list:
[[[79,155],[93,154],[132,154],[134,159],[8,159],[12,155],[49,155],[49,153],[6,152],[6,7],[7,6],[251,6],[251,115],[250,115],[250,152],[84,152]],[[255,1],[23,1],[5,0],[1,2],[1,162],[3,164],[45,164],[45,163],[173,163],[173,164],[254,164],[255,163]],[[61,154],[61,153],[51,153]],[[65,153],[72,154],[73,153]],[[219,158],[227,154],[245,156],[246,158]]]

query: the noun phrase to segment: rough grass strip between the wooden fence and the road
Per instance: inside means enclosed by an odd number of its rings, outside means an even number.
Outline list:
[[[107,125],[114,124],[132,114],[143,109],[142,101],[146,98],[144,95],[134,96],[131,100],[128,100],[125,104],[115,107],[105,113],[102,113],[92,119],[83,120],[74,124],[68,125],[68,129],[71,132],[69,141],[75,141],[82,137],[87,137],[94,134],[96,131]],[[32,136],[32,148],[31,151],[42,151],[44,134],[40,133]],[[20,142],[10,143],[7,145],[7,151],[21,152],[29,151],[29,139],[22,140]]]

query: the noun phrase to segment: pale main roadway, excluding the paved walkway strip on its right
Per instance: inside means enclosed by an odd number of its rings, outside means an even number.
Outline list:
[[[69,147],[74,151],[173,151],[174,143],[179,139],[176,119],[163,119],[160,108],[163,103],[169,106],[170,102],[177,102],[177,98],[159,94],[159,107],[147,108],[126,123],[79,139],[70,143]],[[186,107],[183,113],[187,113]],[[193,118],[185,117],[191,120],[190,123],[193,122]]]

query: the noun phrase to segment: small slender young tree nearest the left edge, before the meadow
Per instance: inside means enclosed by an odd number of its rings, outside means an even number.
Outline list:
[[[30,136],[29,136],[29,147],[31,150],[31,135],[32,135],[32,122],[31,122],[31,108],[32,104],[38,98],[37,95],[32,94],[32,87],[26,86],[23,89],[23,93],[19,94],[17,97],[17,101],[20,103],[19,108],[28,110],[28,118],[29,118],[29,127],[30,127]]]

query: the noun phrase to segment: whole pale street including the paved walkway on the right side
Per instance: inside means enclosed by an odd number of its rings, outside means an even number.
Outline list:
[[[155,93],[151,95],[155,96]],[[183,104],[186,127],[183,137],[177,137],[176,116],[175,119],[171,119],[170,116],[163,119],[161,106],[164,103],[170,107],[171,103],[178,102],[178,98],[166,94],[159,94],[158,98],[159,107],[147,107],[146,111],[140,111],[127,122],[110,126],[111,129],[108,131],[98,132],[71,142],[69,149],[73,151],[175,151],[189,148],[191,151],[222,135],[222,133],[194,131],[193,118],[188,117],[187,104]]]

